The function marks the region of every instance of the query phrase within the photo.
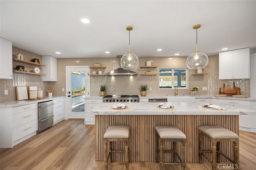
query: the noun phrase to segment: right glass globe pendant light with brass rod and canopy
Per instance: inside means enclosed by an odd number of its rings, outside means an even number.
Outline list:
[[[196,29],[196,51],[188,55],[186,63],[189,69],[203,69],[208,64],[208,56],[197,51],[197,29],[200,27],[200,24],[193,26],[193,29]]]

